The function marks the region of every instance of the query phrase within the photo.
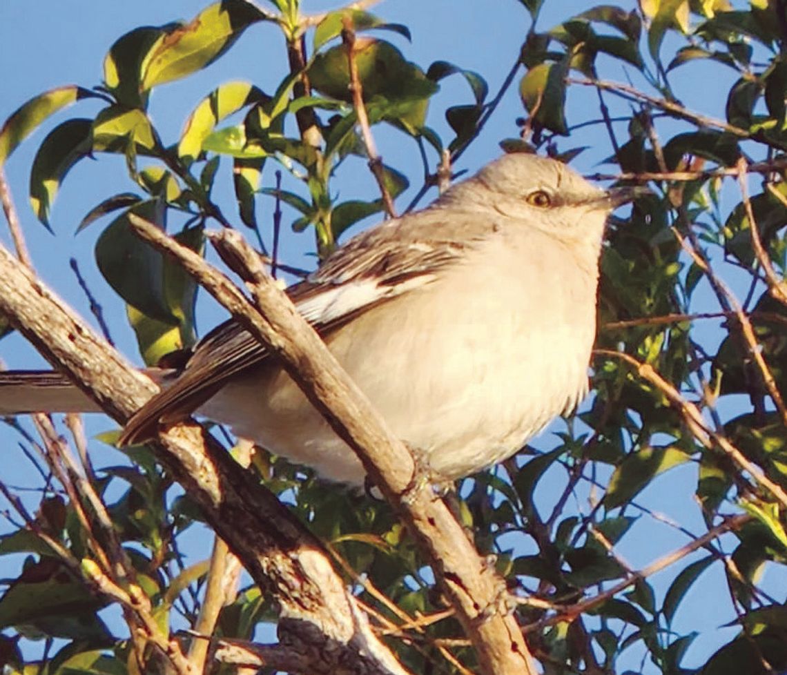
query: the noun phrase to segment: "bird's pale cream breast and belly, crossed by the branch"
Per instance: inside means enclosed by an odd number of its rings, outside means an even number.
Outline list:
[[[327,339],[394,433],[446,478],[512,455],[586,393],[596,272],[566,265],[570,253],[540,246],[545,237],[486,242]],[[353,452],[271,364],[201,411],[325,478],[364,480]]]

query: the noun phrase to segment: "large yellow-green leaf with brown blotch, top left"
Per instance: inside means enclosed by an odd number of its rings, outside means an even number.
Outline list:
[[[246,0],[215,2],[159,39],[142,64],[143,91],[186,77],[216,61],[243,31],[268,17]]]

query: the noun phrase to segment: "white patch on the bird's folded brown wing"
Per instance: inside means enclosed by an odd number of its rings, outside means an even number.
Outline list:
[[[357,312],[375,302],[424,286],[433,279],[434,275],[419,275],[400,283],[381,286],[375,279],[365,278],[341,286],[325,286],[320,293],[296,306],[304,319],[319,326],[334,319],[341,319],[342,316]]]

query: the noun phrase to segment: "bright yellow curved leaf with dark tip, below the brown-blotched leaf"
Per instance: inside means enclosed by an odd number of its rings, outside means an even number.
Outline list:
[[[212,90],[200,101],[186,120],[186,127],[178,144],[178,155],[188,163],[194,161],[202,152],[205,141],[216,124],[246,107],[260,101],[269,101],[258,87],[246,82],[228,82]]]

